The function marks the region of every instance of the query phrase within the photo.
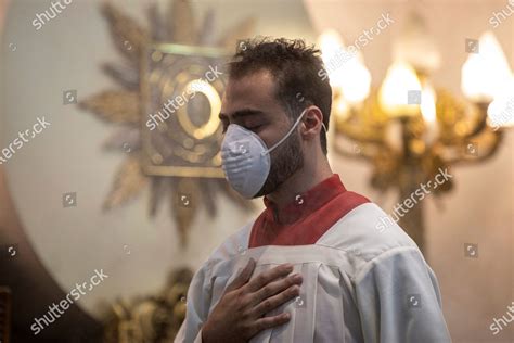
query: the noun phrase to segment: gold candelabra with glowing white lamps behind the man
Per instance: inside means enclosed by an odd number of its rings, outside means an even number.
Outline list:
[[[374,189],[398,192],[397,206],[402,211],[397,213],[395,206],[396,216],[389,214],[376,228],[399,221],[422,250],[426,247],[423,199],[452,189],[451,166],[493,156],[503,129],[512,124],[512,100],[503,112],[498,109],[505,107],[504,90],[514,89],[514,76],[510,69],[491,69],[491,56],[502,56],[492,34],[485,34],[477,43],[483,51],[471,52],[463,66],[462,88],[467,100],[434,89],[428,68],[401,59],[389,67],[380,88],[370,86],[371,76],[360,53],[355,53],[342,69],[329,71],[334,90],[333,150],[370,163]],[[320,37],[320,46],[325,65],[345,50],[333,30]],[[486,67],[489,74],[484,73]],[[450,177],[439,183],[435,178],[440,173]]]

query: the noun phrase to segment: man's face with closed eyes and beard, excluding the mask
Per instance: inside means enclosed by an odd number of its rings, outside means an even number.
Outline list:
[[[229,79],[223,96],[220,120],[223,131],[230,124],[237,124],[257,134],[268,148],[282,139],[293,119],[274,98],[274,80],[267,71],[260,71],[240,79]],[[304,155],[297,130],[271,152],[268,179],[255,195],[273,192],[304,165]]]

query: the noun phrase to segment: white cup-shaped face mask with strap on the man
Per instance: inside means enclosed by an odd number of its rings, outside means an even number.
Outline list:
[[[262,188],[271,167],[270,153],[284,142],[298,126],[307,109],[296,119],[290,131],[268,149],[255,132],[237,124],[230,124],[221,143],[224,176],[230,186],[246,199],[252,199]],[[326,131],[326,128],[323,128]]]

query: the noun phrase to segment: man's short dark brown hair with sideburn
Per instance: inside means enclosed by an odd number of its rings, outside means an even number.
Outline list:
[[[329,78],[319,76],[320,73],[326,74],[320,54],[320,50],[306,46],[301,39],[265,37],[241,40],[229,62],[229,77],[239,79],[261,69],[269,71],[275,80],[274,97],[293,119],[307,106],[316,105],[329,128],[332,88]],[[326,154],[326,132],[323,129],[320,141]]]

